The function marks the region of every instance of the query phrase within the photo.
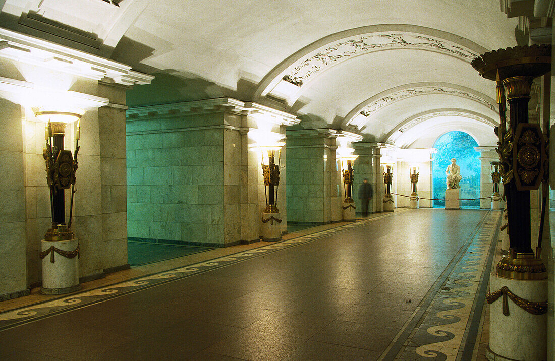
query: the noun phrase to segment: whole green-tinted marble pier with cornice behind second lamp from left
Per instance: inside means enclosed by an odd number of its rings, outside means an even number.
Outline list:
[[[222,104],[244,106],[220,98],[128,110],[129,237],[216,247],[259,239],[266,202],[260,156],[249,136],[257,123]],[[282,125],[274,128],[285,133]],[[285,159],[283,148],[283,231]]]

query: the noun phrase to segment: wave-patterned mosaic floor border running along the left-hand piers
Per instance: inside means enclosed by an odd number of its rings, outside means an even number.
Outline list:
[[[212,260],[194,263],[192,265],[174,268],[164,272],[150,274],[129,281],[124,281],[110,286],[90,289],[88,291],[71,294],[65,297],[59,297],[50,301],[32,304],[30,306],[12,309],[0,313],[0,331],[12,327],[17,327],[25,323],[37,321],[38,319],[51,317],[56,314],[71,311],[73,309],[90,306],[95,303],[106,301],[110,298],[122,297],[125,294],[138,292],[146,288],[160,286],[168,282],[193,276],[194,274],[204,273],[216,268],[225,267],[233,263],[242,262],[250,258],[266,255],[271,252],[277,252],[286,248],[301,245],[303,243],[319,240],[336,233],[349,230],[354,227],[361,227],[370,222],[375,222],[384,217],[409,211],[409,209],[398,210],[394,213],[385,213],[366,220],[352,222],[344,226],[331,228],[329,230],[311,233],[309,235],[292,238],[291,240],[272,243],[271,245],[253,248],[248,251],[233,253],[228,256],[214,258]]]

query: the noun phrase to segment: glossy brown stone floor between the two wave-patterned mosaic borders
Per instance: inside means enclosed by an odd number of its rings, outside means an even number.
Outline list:
[[[322,232],[0,331],[0,359],[379,359],[487,214],[405,210]]]

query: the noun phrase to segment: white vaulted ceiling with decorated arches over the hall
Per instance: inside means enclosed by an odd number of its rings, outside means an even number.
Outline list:
[[[518,22],[498,0],[0,6],[3,26],[156,75],[128,92],[130,106],[231,96],[289,111],[302,119],[297,126],[356,131],[401,148],[432,146],[448,130],[495,144],[495,86],[470,62],[516,45]],[[73,28],[80,38],[67,35]]]

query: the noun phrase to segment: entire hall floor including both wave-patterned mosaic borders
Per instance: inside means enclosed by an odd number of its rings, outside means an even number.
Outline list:
[[[3,312],[0,359],[471,359],[498,218],[401,210]]]

